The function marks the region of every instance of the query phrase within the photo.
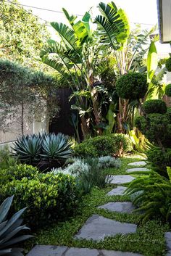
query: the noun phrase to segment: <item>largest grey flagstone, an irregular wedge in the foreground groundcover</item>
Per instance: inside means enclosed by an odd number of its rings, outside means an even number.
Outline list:
[[[86,240],[104,240],[105,236],[114,236],[117,234],[130,234],[136,232],[137,226],[130,223],[121,223],[116,220],[110,220],[100,215],[92,215],[80,229],[75,239]]]

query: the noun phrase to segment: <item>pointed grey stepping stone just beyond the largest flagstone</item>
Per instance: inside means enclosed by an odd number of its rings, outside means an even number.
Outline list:
[[[109,210],[110,212],[133,212],[135,207],[132,202],[108,202],[98,207],[99,209]]]

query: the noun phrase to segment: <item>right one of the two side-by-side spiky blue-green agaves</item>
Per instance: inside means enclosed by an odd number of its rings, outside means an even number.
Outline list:
[[[71,143],[68,141],[68,136],[62,133],[57,135],[49,133],[43,137],[42,154],[43,160],[59,161],[66,160],[72,155]]]

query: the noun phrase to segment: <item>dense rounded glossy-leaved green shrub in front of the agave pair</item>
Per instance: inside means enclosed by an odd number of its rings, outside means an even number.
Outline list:
[[[23,174],[22,165],[12,171],[15,175],[12,181],[9,177],[8,182],[1,183],[0,200],[14,194],[12,212],[28,207],[25,220],[30,226],[42,226],[72,214],[78,200],[75,178],[62,173],[38,173],[34,168],[33,174],[31,167],[26,165]],[[9,174],[10,170],[6,172]]]

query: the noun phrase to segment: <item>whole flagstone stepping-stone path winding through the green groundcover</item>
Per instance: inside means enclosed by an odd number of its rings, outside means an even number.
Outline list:
[[[133,172],[148,172],[149,169],[144,167],[146,162],[131,162],[129,165]],[[132,173],[128,169],[126,172]],[[107,196],[121,196],[124,194],[126,186],[122,184],[133,181],[135,177],[130,175],[112,176],[112,183],[117,187],[107,193]],[[121,185],[121,186],[120,186]],[[109,212],[121,212],[131,214],[134,207],[131,202],[108,202],[105,205],[100,205],[99,209],[104,209]],[[103,216],[94,214],[80,228],[78,234],[74,239],[86,239],[93,241],[104,240],[107,236],[115,236],[117,234],[133,234],[136,232],[137,226],[132,223],[121,223],[120,221],[104,218]],[[165,234],[167,242],[167,256],[171,256],[171,232]],[[27,256],[143,256],[134,252],[119,252],[105,249],[89,249],[89,248],[73,248],[73,247],[59,247],[49,245],[37,245],[34,247]]]

